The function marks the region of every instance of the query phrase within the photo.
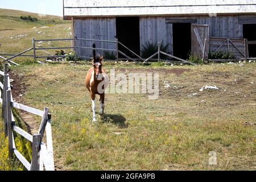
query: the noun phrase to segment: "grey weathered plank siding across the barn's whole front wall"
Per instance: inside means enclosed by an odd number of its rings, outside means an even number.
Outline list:
[[[256,23],[256,15],[217,15],[203,16],[141,16],[139,23],[141,50],[146,42],[169,44],[168,52],[173,53],[172,23],[209,24],[209,36],[218,38],[243,38],[243,25]],[[115,40],[115,17],[73,18],[74,35],[77,38]],[[129,30],[127,30],[129,31]],[[113,43],[95,42],[97,48],[115,49]],[[78,41],[77,46],[92,47],[93,42]],[[211,49],[211,48],[210,48]],[[92,56],[91,49],[77,48],[77,55]],[[97,51],[103,53],[103,51]]]

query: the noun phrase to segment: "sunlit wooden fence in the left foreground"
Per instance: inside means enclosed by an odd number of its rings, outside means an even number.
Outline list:
[[[10,76],[7,73],[7,65],[5,64],[5,71],[0,71],[0,76],[3,76],[3,83],[0,82],[2,89],[2,98],[0,103],[2,104],[2,118],[5,125],[5,135],[8,137],[9,143],[9,157],[13,158],[15,154],[16,158],[27,168],[28,171],[54,171],[53,160],[53,147],[52,147],[52,131],[51,131],[51,114],[49,109],[44,108],[44,111],[34,109],[32,107],[14,102],[11,95]],[[31,114],[39,115],[42,117],[38,134],[30,135],[20,127],[15,125],[14,115],[11,111],[12,108],[26,111]],[[42,142],[44,131],[46,131],[46,143]],[[15,147],[14,132],[32,142],[32,161],[27,161],[26,158]]]

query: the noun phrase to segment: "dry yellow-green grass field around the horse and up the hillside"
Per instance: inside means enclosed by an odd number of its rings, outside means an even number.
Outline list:
[[[16,31],[3,31],[0,52],[27,48],[35,34],[31,28],[38,26],[18,28],[19,34],[27,30],[29,35],[24,45],[22,38],[16,44],[7,38]],[[48,30],[60,28],[58,38],[63,38],[69,26],[55,24]],[[50,108],[57,170],[256,170],[255,63],[171,67],[106,62],[108,74],[111,68],[126,75],[159,73],[160,95],[148,100],[147,94],[106,94],[106,114],[97,114],[98,123],[92,125],[84,86],[90,63],[16,61],[21,65],[10,72],[14,99],[40,110]],[[219,89],[200,92],[204,85]],[[31,126],[27,130],[35,133],[40,119],[20,114]],[[209,164],[210,151],[217,154],[216,165]]]

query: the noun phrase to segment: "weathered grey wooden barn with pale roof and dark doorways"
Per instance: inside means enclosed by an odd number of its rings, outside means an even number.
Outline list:
[[[64,0],[63,13],[72,20],[80,57],[92,56],[84,47],[93,43],[115,54],[116,39],[138,55],[147,42],[163,42],[168,53],[182,59],[189,52],[203,56],[204,49],[206,56],[229,51],[236,57],[256,57],[255,0]],[[135,56],[123,46],[118,50]]]

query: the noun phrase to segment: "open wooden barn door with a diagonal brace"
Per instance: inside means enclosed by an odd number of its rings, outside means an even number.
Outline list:
[[[207,41],[205,42],[205,39]],[[209,51],[209,24],[192,24],[191,26],[191,54],[208,59]]]

